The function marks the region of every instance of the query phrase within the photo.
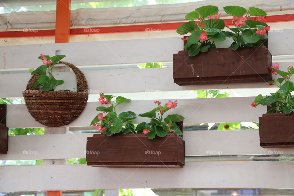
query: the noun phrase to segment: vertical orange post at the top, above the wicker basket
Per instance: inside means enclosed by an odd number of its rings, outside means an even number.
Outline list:
[[[55,43],[70,42],[70,1],[56,0]]]

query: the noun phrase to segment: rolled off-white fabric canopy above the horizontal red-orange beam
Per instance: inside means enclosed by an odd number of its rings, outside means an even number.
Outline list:
[[[293,10],[293,0],[207,0],[180,4],[162,4],[139,7],[119,7],[100,9],[76,9],[71,11],[71,27],[101,27],[113,25],[133,25],[140,23],[161,23],[183,21],[185,15],[195,8],[204,5],[218,6],[221,16],[226,16],[223,7],[238,5],[251,6],[265,10],[267,13],[282,10]],[[0,14],[0,30],[54,29],[55,11],[12,12]]]

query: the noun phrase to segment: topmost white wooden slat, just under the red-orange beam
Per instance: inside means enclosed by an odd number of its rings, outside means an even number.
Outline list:
[[[272,55],[294,54],[294,29],[283,32],[269,32],[269,50]],[[222,43],[228,47],[231,40]],[[55,55],[60,49],[66,55],[64,61],[76,66],[105,65],[121,63],[146,63],[172,61],[172,54],[183,50],[183,42],[179,37],[113,40],[96,42],[51,43],[18,46],[2,46],[0,68],[31,68],[40,65],[37,56],[40,53]]]

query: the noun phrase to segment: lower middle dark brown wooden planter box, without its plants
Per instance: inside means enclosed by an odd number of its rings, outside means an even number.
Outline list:
[[[185,141],[177,134],[148,139],[144,134],[94,134],[87,138],[86,161],[92,167],[183,168]]]

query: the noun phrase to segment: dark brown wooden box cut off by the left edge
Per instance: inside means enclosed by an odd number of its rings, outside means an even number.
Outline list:
[[[0,104],[0,154],[8,151],[8,128],[6,127],[6,104]]]

